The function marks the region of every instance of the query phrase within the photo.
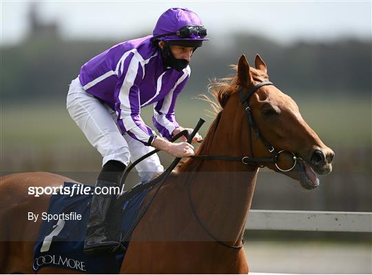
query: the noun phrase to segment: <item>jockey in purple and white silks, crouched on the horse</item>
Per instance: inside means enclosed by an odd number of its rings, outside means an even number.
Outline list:
[[[189,61],[205,40],[207,30],[195,12],[171,8],[158,19],[153,35],[118,43],[80,70],[70,84],[67,108],[88,141],[103,156],[96,187],[118,186],[130,161],[163,150],[176,157],[191,156],[194,147],[169,139],[184,128],[176,122],[178,94],[190,76]],[[141,118],[141,108],[153,104],[157,136]],[[192,129],[189,129],[192,130]],[[200,141],[199,134],[193,143]],[[136,165],[143,181],[164,168],[156,154]],[[105,228],[111,195],[93,194],[84,252],[113,252],[120,243]]]

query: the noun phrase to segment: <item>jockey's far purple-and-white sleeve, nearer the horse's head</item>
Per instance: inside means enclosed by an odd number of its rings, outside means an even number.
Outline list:
[[[187,80],[189,79],[190,72],[191,70],[189,66],[187,66],[167,96],[154,104],[154,116],[152,116],[152,122],[161,136],[165,137],[165,139],[172,139],[172,132],[174,129],[179,127],[176,121],[174,108],[176,105],[177,96],[185,87]]]

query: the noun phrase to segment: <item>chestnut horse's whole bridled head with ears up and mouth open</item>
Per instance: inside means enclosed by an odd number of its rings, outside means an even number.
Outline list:
[[[332,170],[333,151],[304,121],[296,102],[269,82],[267,65],[259,55],[255,68],[242,55],[236,70],[229,84],[212,89],[230,118],[231,132],[239,132],[231,144],[237,143],[249,158],[273,160],[256,165],[296,179],[305,189],[317,187],[318,175]]]

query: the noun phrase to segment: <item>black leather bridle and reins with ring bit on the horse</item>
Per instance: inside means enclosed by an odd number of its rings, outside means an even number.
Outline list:
[[[239,91],[238,91],[238,94],[239,94],[239,97],[240,97],[240,102],[242,103],[243,108],[245,109],[245,114],[247,115],[251,156],[220,156],[220,155],[219,156],[217,156],[217,155],[196,155],[195,156],[194,155],[194,156],[190,156],[190,157],[192,159],[209,160],[209,161],[241,161],[245,165],[255,164],[255,165],[258,165],[260,167],[264,166],[264,165],[262,165],[262,163],[274,163],[276,165],[276,167],[278,168],[278,170],[280,170],[281,172],[289,172],[289,171],[293,170],[293,168],[296,167],[296,163],[297,163],[297,159],[298,159],[296,154],[294,154],[293,152],[289,152],[290,154],[293,155],[293,165],[289,169],[282,169],[278,165],[278,159],[279,159],[280,154],[282,154],[283,152],[287,152],[287,151],[276,150],[276,148],[273,147],[273,145],[271,145],[264,138],[264,136],[262,136],[262,134],[260,134],[260,130],[258,130],[256,122],[254,121],[254,116],[251,112],[251,108],[249,107],[249,99],[251,98],[252,94],[254,94],[254,92],[256,92],[259,88],[261,88],[263,86],[266,86],[266,85],[273,85],[273,83],[271,83],[269,81],[258,83],[257,85],[254,85],[254,87],[251,88],[251,90],[249,90],[249,92],[247,92],[247,94],[243,94],[244,88],[240,85],[240,88],[239,88]],[[200,121],[198,122],[198,125],[196,125],[196,128],[194,128],[194,131],[192,132],[192,134],[189,134],[187,132],[187,130],[183,130],[182,132],[180,132],[176,136],[174,136],[174,138],[171,141],[172,142],[176,141],[176,139],[178,139],[180,136],[188,135],[187,142],[191,143],[191,141],[192,141],[193,137],[195,136],[196,132],[199,130],[199,128],[201,127],[201,125],[203,125],[204,122],[205,121],[203,121],[203,119],[200,119]],[[258,139],[260,139],[260,141],[262,141],[262,143],[265,145],[265,147],[267,147],[267,150],[269,151],[269,153],[274,154],[274,156],[264,157],[264,158],[254,157],[254,149],[253,149],[253,140],[252,140],[251,129],[254,130]],[[127,170],[125,170],[125,173],[123,174],[123,177],[121,179],[121,184],[123,184],[125,182],[125,179],[126,179],[127,175],[129,174],[130,170],[132,170],[136,164],[140,163],[141,161],[143,161],[143,159],[146,159],[148,156],[151,156],[152,154],[155,154],[158,151],[159,150],[153,150],[152,152],[149,152],[149,153],[145,154],[144,156],[142,156],[137,161],[134,161],[134,163],[132,163],[132,165],[130,165],[130,167],[128,167]],[[121,196],[118,196],[117,200],[119,202],[124,201],[125,198],[130,197],[132,194],[136,194],[136,192],[140,192],[141,190],[145,190],[148,187],[154,186],[154,185],[156,185],[157,183],[160,182],[160,184],[158,186],[158,189],[156,190],[154,196],[152,196],[152,198],[149,200],[149,203],[147,203],[147,205],[145,205],[141,214],[138,214],[138,216],[136,218],[136,221],[133,223],[132,227],[130,227],[130,230],[128,230],[127,234],[125,234],[124,238],[122,238],[122,241],[128,241],[129,240],[130,235],[132,234],[132,231],[134,230],[136,225],[139,223],[139,221],[141,221],[141,218],[143,217],[143,215],[145,214],[145,212],[149,208],[149,205],[151,205],[151,203],[154,200],[156,194],[158,194],[158,191],[161,189],[161,186],[165,182],[165,179],[167,179],[167,176],[169,176],[170,172],[172,172],[172,170],[174,169],[174,167],[176,167],[176,165],[178,164],[179,161],[180,161],[180,158],[176,158],[172,162],[172,164],[167,168],[167,170],[165,170],[165,172],[163,172],[163,174],[158,176],[158,178],[156,178],[152,181],[149,181],[148,183],[145,183],[144,185],[138,185],[136,187],[133,187],[132,190],[126,192],[125,194],[122,194]],[[238,248],[238,249],[242,248],[242,246],[244,245],[244,234],[242,236],[242,241],[241,241],[240,245],[229,245],[227,243],[224,243],[223,241],[219,241],[213,234],[211,234],[211,232],[209,232],[209,230],[207,229],[204,222],[198,216],[198,214],[196,212],[196,209],[194,207],[194,203],[192,203],[192,197],[191,197],[191,190],[190,189],[191,189],[191,181],[187,181],[187,196],[189,198],[189,205],[191,207],[192,213],[194,214],[194,217],[196,218],[196,221],[198,221],[198,223],[203,228],[203,230],[208,234],[208,236],[210,236],[214,241],[216,241],[217,243],[220,243],[220,245],[223,245],[225,247]]]

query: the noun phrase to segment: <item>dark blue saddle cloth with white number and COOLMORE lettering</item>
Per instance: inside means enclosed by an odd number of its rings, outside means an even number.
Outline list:
[[[64,187],[71,188],[74,184],[76,183],[66,182]],[[84,185],[84,188],[89,188],[87,190],[93,189],[88,185]],[[123,215],[109,218],[111,226],[121,229],[120,231],[117,230],[118,232],[114,238],[119,240],[130,230],[149,190],[151,190],[151,187],[147,187],[145,190],[127,198],[122,205]],[[59,267],[89,274],[115,274],[120,271],[125,253],[99,256],[87,256],[83,253],[91,201],[92,194],[52,195],[48,214],[65,213],[68,215],[72,213],[74,217],[80,214],[81,220],[59,218],[49,222],[46,219],[42,221],[34,245],[32,269],[35,273],[43,267]],[[129,242],[124,245],[127,247]]]

